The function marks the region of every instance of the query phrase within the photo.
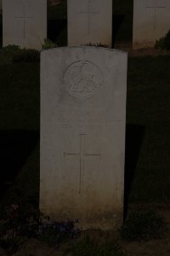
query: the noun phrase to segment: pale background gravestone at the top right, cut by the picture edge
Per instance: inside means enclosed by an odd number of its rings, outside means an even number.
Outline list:
[[[134,0],[133,49],[152,47],[169,29],[169,0]]]

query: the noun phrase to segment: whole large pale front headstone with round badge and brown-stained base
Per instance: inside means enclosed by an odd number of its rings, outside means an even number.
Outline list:
[[[84,229],[122,224],[126,86],[122,51],[42,51],[42,212]]]

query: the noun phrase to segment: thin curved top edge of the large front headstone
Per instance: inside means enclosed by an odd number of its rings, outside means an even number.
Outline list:
[[[41,54],[46,54],[49,52],[54,52],[62,49],[105,49],[105,51],[110,51],[112,53],[123,54],[123,55],[128,54],[126,51],[123,51],[121,49],[111,49],[111,48],[98,47],[98,46],[68,46],[68,47],[59,47],[59,48],[52,48],[52,49],[42,49]]]

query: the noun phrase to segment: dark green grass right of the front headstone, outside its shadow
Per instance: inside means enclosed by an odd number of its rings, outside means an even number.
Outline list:
[[[170,175],[169,56],[130,58],[127,123],[144,125],[130,201],[168,201]]]

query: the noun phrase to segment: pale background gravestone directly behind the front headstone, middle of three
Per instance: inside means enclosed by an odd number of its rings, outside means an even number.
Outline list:
[[[112,0],[68,0],[68,45],[112,42]]]

